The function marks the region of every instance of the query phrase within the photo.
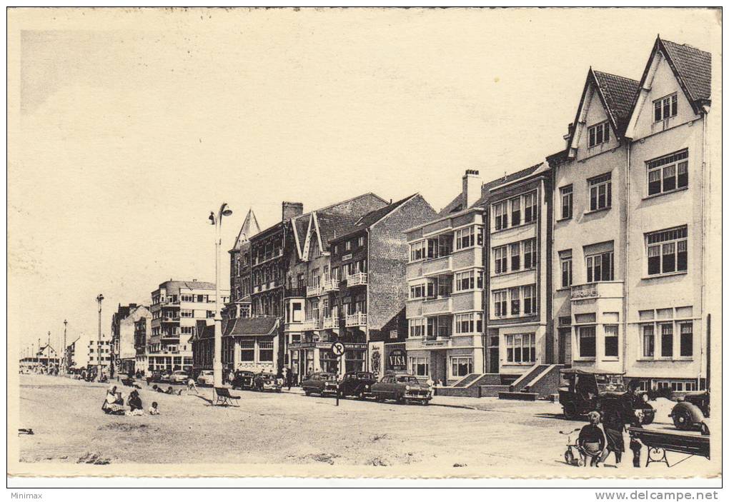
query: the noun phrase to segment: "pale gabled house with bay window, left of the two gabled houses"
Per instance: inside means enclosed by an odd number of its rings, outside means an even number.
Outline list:
[[[639,82],[588,71],[553,165],[553,334],[561,364],[623,370],[625,128]]]

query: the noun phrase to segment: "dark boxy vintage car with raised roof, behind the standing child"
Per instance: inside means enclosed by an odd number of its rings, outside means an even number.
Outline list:
[[[636,420],[644,425],[652,423],[655,409],[647,403],[646,393],[631,401],[631,409],[623,409],[625,385],[622,373],[574,368],[563,369],[560,373],[564,385],[559,388],[559,404],[567,420],[584,417],[594,410],[604,412],[609,407],[620,407],[625,413],[626,423]]]

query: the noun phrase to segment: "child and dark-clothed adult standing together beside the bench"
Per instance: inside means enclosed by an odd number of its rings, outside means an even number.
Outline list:
[[[635,399],[639,398],[639,383],[633,381],[628,384],[628,392],[620,398],[615,406],[604,409],[604,414],[593,411],[588,413],[588,425],[580,430],[577,437],[577,446],[581,449],[585,466],[590,458],[590,466],[598,467],[604,463],[610,453],[615,455],[615,464],[623,460],[625,452],[625,439],[623,431],[628,425],[640,426],[636,417],[628,412],[632,409]],[[633,452],[633,466],[640,467],[640,450],[642,445],[631,438],[630,448]]]

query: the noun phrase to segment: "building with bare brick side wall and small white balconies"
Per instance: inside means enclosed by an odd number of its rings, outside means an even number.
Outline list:
[[[392,352],[402,350],[405,340],[409,294],[405,268],[410,254],[405,230],[436,215],[421,195],[414,194],[370,211],[352,230],[330,239],[330,273],[340,281],[329,309],[330,315],[339,315],[345,369],[366,369],[381,376],[390,358],[401,366],[398,358],[404,354],[392,356]]]

